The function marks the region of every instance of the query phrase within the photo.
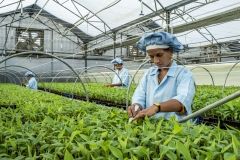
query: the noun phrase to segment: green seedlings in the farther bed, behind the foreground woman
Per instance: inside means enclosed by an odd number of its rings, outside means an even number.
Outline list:
[[[115,104],[126,104],[127,89],[125,88],[106,88],[102,83],[86,83],[86,89],[90,99],[97,99],[101,101],[109,101]],[[85,92],[80,83],[74,87],[73,83],[45,83],[46,88],[58,91],[61,93],[70,93],[74,91],[75,96],[85,97]],[[39,87],[43,87],[39,83]],[[136,89],[137,85],[132,84],[129,93],[129,104],[131,103],[131,97]],[[228,86],[225,87],[225,92],[222,94],[222,86],[212,85],[199,85],[197,86],[197,92],[194,96],[192,103],[193,112],[206,107],[227,95],[230,95],[238,91],[240,87]],[[222,120],[240,121],[240,98],[234,99],[224,105],[214,108],[203,116],[219,118]]]

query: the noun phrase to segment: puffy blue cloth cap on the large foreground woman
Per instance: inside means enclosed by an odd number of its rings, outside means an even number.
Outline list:
[[[168,45],[172,47],[173,52],[179,52],[183,49],[183,45],[178,41],[177,37],[167,32],[147,33],[136,43],[138,49],[146,52],[148,45]]]

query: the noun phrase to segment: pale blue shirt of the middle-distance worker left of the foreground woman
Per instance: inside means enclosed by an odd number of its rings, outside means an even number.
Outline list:
[[[118,76],[117,76],[118,74]],[[115,86],[114,88],[128,88],[129,85],[129,81],[130,81],[130,74],[128,72],[128,70],[126,68],[122,68],[121,71],[119,72],[119,70],[116,70],[114,77],[113,77],[113,82],[112,84],[116,84],[116,83],[120,83],[120,79],[122,81],[122,83],[124,84],[123,86]]]

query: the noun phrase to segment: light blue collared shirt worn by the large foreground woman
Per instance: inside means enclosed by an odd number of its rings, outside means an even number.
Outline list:
[[[139,103],[143,109],[153,105],[154,102],[165,102],[176,99],[186,108],[185,114],[176,112],[160,112],[156,117],[170,119],[176,116],[176,120],[192,113],[192,100],[195,93],[194,79],[192,73],[184,66],[172,62],[167,74],[158,84],[158,67],[148,69],[141,79],[132,97],[132,103]]]

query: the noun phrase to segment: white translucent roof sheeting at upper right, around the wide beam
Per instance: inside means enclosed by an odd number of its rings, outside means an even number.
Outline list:
[[[200,2],[200,1],[199,1]],[[204,1],[202,1],[204,2]],[[197,3],[191,3],[185,7],[187,11],[190,8],[197,7]],[[205,5],[199,9],[196,9],[189,13],[189,15],[184,15],[182,18],[187,22],[197,21],[208,16],[219,14],[228,10],[240,10],[239,0],[219,0],[208,5]],[[192,17],[192,18],[191,18]],[[238,16],[240,18],[240,15]],[[172,21],[173,26],[182,25],[185,21],[182,18],[178,18]],[[218,18],[218,17],[217,17]],[[231,20],[229,22],[213,24],[206,27],[199,28],[199,31],[203,34],[201,35],[196,30],[191,30],[183,33],[176,34],[179,40],[183,44],[190,44],[189,46],[203,46],[212,43],[222,43],[226,41],[233,41],[240,39],[240,19]]]

